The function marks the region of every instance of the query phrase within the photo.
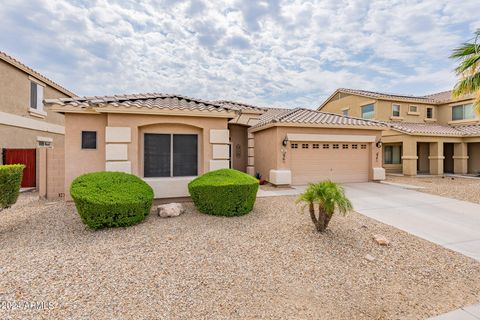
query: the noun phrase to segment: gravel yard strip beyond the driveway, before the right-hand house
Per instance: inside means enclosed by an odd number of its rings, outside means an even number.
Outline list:
[[[387,176],[387,181],[423,187],[420,192],[480,203],[480,178]]]

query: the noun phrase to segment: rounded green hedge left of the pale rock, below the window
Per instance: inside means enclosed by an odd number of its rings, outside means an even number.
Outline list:
[[[70,195],[83,223],[92,229],[127,227],[150,213],[153,190],[123,172],[87,173],[73,180]]]

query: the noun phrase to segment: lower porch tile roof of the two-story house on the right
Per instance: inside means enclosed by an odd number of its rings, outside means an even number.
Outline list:
[[[467,136],[480,134],[480,125],[448,126],[436,123],[413,122],[386,122],[386,124],[395,130],[411,134],[442,136]]]

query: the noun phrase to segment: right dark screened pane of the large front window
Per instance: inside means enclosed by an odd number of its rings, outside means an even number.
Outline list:
[[[198,141],[196,134],[173,135],[173,176],[198,174]]]

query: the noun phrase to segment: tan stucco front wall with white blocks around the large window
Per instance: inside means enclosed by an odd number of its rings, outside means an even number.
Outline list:
[[[143,177],[145,133],[197,134],[198,172],[228,168],[229,131],[226,118],[143,114],[66,114],[65,185],[92,171],[124,171]],[[81,149],[81,131],[97,131],[97,149]],[[156,198],[188,195],[193,177],[144,178]],[[68,198],[68,197],[67,197]]]

